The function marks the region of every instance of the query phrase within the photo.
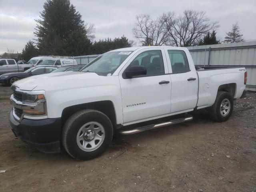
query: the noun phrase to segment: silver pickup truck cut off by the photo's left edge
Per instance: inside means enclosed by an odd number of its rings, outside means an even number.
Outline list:
[[[16,60],[0,58],[0,74],[23,72],[32,67],[32,64],[17,64]]]

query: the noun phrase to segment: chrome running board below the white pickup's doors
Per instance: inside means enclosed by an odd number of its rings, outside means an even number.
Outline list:
[[[164,122],[164,123],[160,123],[160,124],[151,124],[151,125],[146,125],[146,126],[142,126],[142,127],[138,127],[136,129],[130,129],[130,130],[122,130],[122,128],[119,130],[120,134],[123,135],[130,135],[130,134],[136,134],[139,132],[143,132],[143,131],[147,131],[147,130],[152,130],[152,129],[156,129],[156,128],[160,128],[160,127],[164,127],[164,126],[168,126],[168,125],[173,125],[173,124],[178,124],[178,123],[183,123],[186,121],[191,121],[193,120],[193,117],[186,117],[186,118],[178,118],[178,119],[174,119],[168,122]]]

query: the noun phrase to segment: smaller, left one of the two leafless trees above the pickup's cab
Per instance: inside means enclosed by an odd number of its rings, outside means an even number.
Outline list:
[[[164,22],[161,18],[152,20],[148,14],[136,16],[136,26],[132,31],[135,38],[142,42],[142,45],[161,46],[168,42]]]

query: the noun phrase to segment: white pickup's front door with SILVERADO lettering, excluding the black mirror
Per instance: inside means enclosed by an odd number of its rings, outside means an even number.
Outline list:
[[[170,114],[171,80],[163,48],[140,50],[119,73],[124,123]],[[130,66],[145,66],[146,75],[125,77]]]

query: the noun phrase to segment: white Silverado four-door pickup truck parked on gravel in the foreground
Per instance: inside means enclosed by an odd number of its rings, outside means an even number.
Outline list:
[[[16,136],[44,152],[63,146],[87,160],[106,150],[114,131],[134,134],[185,122],[192,120],[188,112],[202,108],[217,122],[228,120],[246,78],[245,68],[196,68],[186,48],[112,50],[80,72],[14,82],[10,124]]]

